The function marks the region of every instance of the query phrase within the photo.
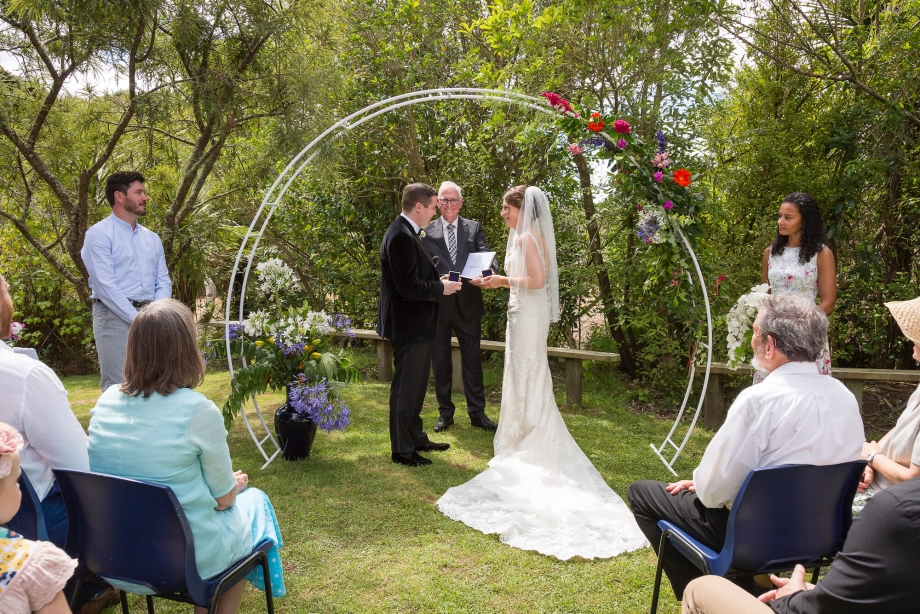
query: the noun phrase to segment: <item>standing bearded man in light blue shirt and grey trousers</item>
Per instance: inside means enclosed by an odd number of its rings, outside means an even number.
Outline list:
[[[105,182],[112,215],[86,231],[80,255],[93,291],[93,336],[102,390],[124,379],[128,328],[139,309],[172,296],[163,243],[137,223],[147,215],[144,177],[114,173]]]

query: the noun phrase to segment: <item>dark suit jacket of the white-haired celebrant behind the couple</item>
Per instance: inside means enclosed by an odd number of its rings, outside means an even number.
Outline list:
[[[447,237],[444,236],[444,226],[441,224],[441,218],[428,224],[425,228],[425,244],[431,253],[438,257],[438,273],[447,275],[450,271],[463,272],[466,261],[473,252],[488,252],[489,244],[486,243],[486,235],[482,231],[482,224],[473,220],[462,217],[457,218],[457,262],[452,264],[450,261],[450,252],[447,251]],[[492,271],[498,273],[498,261],[492,260]],[[481,318],[485,313],[485,306],[482,303],[482,289],[478,286],[463,281],[463,287],[460,292],[445,296],[441,301],[440,317],[442,320],[449,320],[454,316],[456,310],[460,310],[460,315],[466,320]]]

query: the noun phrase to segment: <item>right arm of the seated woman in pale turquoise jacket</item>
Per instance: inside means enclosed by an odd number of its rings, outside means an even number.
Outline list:
[[[229,508],[236,501],[239,481],[230,461],[224,417],[214,403],[202,399],[189,420],[186,438],[189,446],[198,451],[201,473],[217,509]]]

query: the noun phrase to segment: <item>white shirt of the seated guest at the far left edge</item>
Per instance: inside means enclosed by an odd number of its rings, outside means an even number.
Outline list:
[[[61,380],[44,363],[0,341],[0,422],[22,435],[22,470],[39,499],[54,485],[52,467],[89,471],[87,437]]]

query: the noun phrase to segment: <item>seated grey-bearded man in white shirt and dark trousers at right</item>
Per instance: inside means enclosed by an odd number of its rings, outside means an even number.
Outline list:
[[[815,366],[826,338],[827,316],[813,302],[791,293],[764,301],[751,345],[767,378],[732,403],[692,480],[629,487],[629,505],[653,548],[661,542],[658,521],[668,520],[721,550],[730,508],[753,469],[859,460],[864,436],[856,398]],[[662,566],[680,599],[702,573],[673,549],[667,553]]]

